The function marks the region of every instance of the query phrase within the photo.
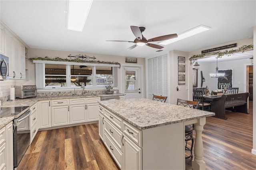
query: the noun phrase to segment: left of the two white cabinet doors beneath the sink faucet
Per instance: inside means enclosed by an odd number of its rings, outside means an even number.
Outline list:
[[[85,105],[70,105],[70,124],[86,121]]]

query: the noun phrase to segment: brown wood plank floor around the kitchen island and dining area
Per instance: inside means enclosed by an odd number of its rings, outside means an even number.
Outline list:
[[[250,114],[226,112],[227,120],[206,118],[202,134],[207,170],[255,170]],[[195,134],[194,134],[195,136]],[[191,170],[192,158],[186,159]],[[28,170],[117,170],[98,135],[98,124],[41,131],[18,167]]]

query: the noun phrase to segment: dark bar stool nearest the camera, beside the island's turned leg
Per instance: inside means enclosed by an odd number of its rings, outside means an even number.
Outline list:
[[[177,105],[183,106],[183,107],[190,107],[192,109],[198,109],[199,106],[199,101],[188,101],[188,100],[182,100],[182,99],[177,99]],[[192,150],[194,146],[194,138],[193,138],[193,130],[194,130],[194,125],[186,125],[185,126],[185,152],[186,150],[190,151],[189,156],[185,156],[185,158],[192,158]],[[188,141],[191,140],[191,147],[188,148]]]

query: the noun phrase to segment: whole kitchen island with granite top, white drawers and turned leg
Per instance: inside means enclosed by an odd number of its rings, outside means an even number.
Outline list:
[[[194,124],[192,168],[205,169],[202,130],[215,113],[149,99],[99,101],[99,134],[121,169],[185,169],[185,125]]]

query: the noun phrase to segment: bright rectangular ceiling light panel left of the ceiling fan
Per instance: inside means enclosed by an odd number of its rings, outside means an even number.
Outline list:
[[[69,0],[68,30],[83,31],[91,5],[92,0]]]

